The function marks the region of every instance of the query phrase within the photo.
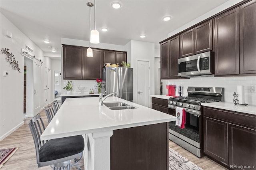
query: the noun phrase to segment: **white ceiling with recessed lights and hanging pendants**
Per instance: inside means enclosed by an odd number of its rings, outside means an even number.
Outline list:
[[[96,0],[96,29],[101,43],[125,45],[130,40],[155,43],[168,33],[228,0]],[[89,7],[94,0],[0,0],[0,12],[45,53],[61,53],[61,38],[89,40]],[[94,8],[91,9],[92,28]],[[163,21],[164,16],[172,16]],[[106,27],[108,32],[100,29]],[[145,34],[146,38],[140,38]],[[49,44],[43,41],[47,39]],[[55,54],[56,55],[56,54]]]

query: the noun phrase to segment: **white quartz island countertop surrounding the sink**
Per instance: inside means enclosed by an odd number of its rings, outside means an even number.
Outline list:
[[[118,97],[108,97],[104,103],[118,101],[136,109],[110,110],[105,105],[99,106],[98,97],[66,99],[41,140],[176,121],[174,116]]]

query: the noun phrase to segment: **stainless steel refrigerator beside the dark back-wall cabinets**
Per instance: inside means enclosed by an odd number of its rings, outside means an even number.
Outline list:
[[[103,81],[106,83],[102,90],[107,90],[106,94],[117,92],[117,97],[133,101],[132,68],[105,67],[103,69]]]

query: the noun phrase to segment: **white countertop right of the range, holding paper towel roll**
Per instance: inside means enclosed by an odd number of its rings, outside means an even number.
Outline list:
[[[242,113],[248,113],[252,115],[256,115],[256,105],[235,105],[232,102],[213,102],[213,103],[202,103],[202,106],[208,106],[208,107],[214,107],[218,109],[225,109],[229,111],[236,111],[236,112],[242,112]]]

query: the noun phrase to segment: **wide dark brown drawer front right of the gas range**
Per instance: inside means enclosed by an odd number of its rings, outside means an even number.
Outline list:
[[[256,129],[256,116],[246,113],[231,112],[222,109],[215,109],[211,107],[204,107],[203,114],[206,117],[212,117],[227,121],[228,123],[236,123],[245,127]]]

